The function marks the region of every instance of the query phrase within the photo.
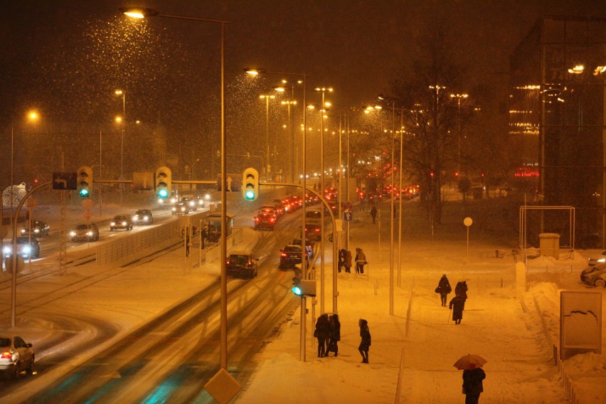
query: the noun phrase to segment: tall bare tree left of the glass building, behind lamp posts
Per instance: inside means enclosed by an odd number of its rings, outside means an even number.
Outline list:
[[[419,48],[420,57],[401,71],[391,90],[410,110],[405,116],[404,163],[418,178],[433,233],[442,218],[443,175],[457,158],[457,106],[450,93],[457,88],[462,68],[443,31],[427,33]]]

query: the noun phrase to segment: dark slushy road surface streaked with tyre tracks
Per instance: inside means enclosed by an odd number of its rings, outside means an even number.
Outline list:
[[[228,371],[245,384],[255,370],[254,356],[267,343],[268,337],[288,321],[298,299],[290,292],[292,271],[277,270],[279,248],[292,240],[299,228],[297,213],[285,216],[275,231],[259,232],[260,240],[255,254],[260,257],[259,276],[253,280],[228,280]],[[252,222],[252,220],[251,220]],[[159,254],[180,254],[176,248]],[[132,265],[139,265],[134,263]],[[100,272],[98,279],[66,286],[53,292],[53,299],[86,287],[87,282],[102,282],[128,267]],[[1,287],[4,287],[1,286]],[[36,307],[44,304],[48,295],[28,302]],[[109,349],[90,358],[55,383],[28,400],[32,403],[81,403],[87,400],[101,402],[157,402],[166,403],[211,402],[203,386],[219,370],[219,281],[213,280],[193,297],[115,341]],[[46,360],[36,363],[38,374],[51,371],[66,360],[84,355],[115,337],[117,329],[109,323],[91,317],[70,318],[59,315],[66,330],[79,327],[90,329],[87,339]],[[78,323],[78,324],[75,324]],[[36,346],[38,357],[45,350],[56,350],[62,339],[78,338],[65,331],[53,341]],[[26,387],[28,378],[5,383],[0,396],[15,386]]]

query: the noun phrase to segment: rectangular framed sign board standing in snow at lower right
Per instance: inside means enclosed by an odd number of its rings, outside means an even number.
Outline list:
[[[560,292],[560,358],[602,353],[602,292]]]

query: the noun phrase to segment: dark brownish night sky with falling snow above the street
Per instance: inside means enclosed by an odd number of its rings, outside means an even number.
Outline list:
[[[244,68],[307,73],[308,88],[334,87],[331,101],[344,109],[389,93],[390,83],[418,55],[418,38],[427,30],[440,27],[447,33],[459,63],[467,67],[464,82],[473,88],[507,82],[509,56],[537,18],[606,16],[601,0],[4,0],[2,174],[10,159],[11,122],[19,127],[26,110],[43,111],[46,123],[52,122],[53,132],[62,133],[59,140],[66,142],[82,127],[103,127],[122,112],[116,88],[126,89],[127,118],[163,124],[180,148],[188,147],[192,136],[196,147],[216,147],[198,134],[215,133],[219,122],[218,25],[168,18],[132,21],[119,14],[122,6],[233,21],[225,38],[232,132],[262,131],[256,128],[265,119],[258,95],[282,78],[265,76],[264,82],[251,84]],[[319,98],[309,95],[310,102],[319,102],[314,97]],[[57,129],[66,125],[71,129]],[[16,147],[26,145],[16,141]],[[16,164],[21,162],[16,159]],[[7,184],[4,178],[2,184]]]

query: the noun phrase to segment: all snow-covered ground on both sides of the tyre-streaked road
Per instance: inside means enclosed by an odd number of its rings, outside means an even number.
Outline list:
[[[412,208],[407,209],[408,215],[418,215],[410,212]],[[504,245],[484,235],[482,241],[476,240],[472,231],[467,256],[462,220],[452,220],[457,223],[452,226],[454,230],[438,233],[440,237],[432,241],[422,235],[422,230],[413,228],[408,221],[410,217],[405,219],[399,277],[398,265],[393,268],[393,315],[390,315],[388,216],[383,216],[379,240],[378,225],[371,224],[364,213],[356,213],[350,249],[363,248],[370,263],[364,276],[341,272],[337,277],[339,356],[317,357],[312,314],[319,315],[320,305],[312,309],[309,304],[306,361],[299,361],[297,311],[260,353],[259,368],[238,395],[237,403],[463,403],[462,373],[452,364],[466,353],[477,353],[488,361],[484,366],[487,378],[481,403],[571,402],[562,372],[553,361],[553,344],[557,345],[559,338],[559,292],[596,290],[581,285],[578,275],[587,257],[599,251],[578,251],[574,258],[563,255],[560,260],[547,257],[529,260],[528,292],[521,304],[516,299],[514,256],[494,257],[494,250],[506,250]],[[255,234],[254,230],[247,230],[244,243],[254,244]],[[395,237],[397,240],[397,232]],[[326,312],[333,311],[330,255],[327,251]],[[319,274],[319,264],[316,270]],[[49,302],[43,309],[19,314],[18,329],[14,331],[36,346],[52,334],[49,324],[65,321],[66,317],[83,317],[112,319],[119,336],[193,294],[201,282],[217,274],[216,265],[206,265],[204,272],[194,269],[191,275],[184,276],[181,260],[166,256],[91,285],[85,292]],[[455,326],[449,320],[450,311],[440,306],[440,297],[434,292],[442,274],[449,277],[453,287],[459,279],[467,280],[469,285],[469,299],[460,325]],[[58,277],[55,282],[80,276],[78,270],[73,270],[68,277]],[[158,294],[166,282],[173,292]],[[44,293],[52,288],[50,283],[41,282],[39,290],[29,289],[28,294]],[[124,285],[128,287],[125,289]],[[8,298],[5,293],[1,295],[3,311]],[[309,303],[311,299],[307,300]],[[372,334],[368,364],[361,363],[357,351],[360,342],[357,324],[361,318],[368,320]],[[1,327],[0,332],[3,329],[7,327]],[[82,334],[86,333],[83,329]],[[38,361],[43,360],[38,357]],[[603,402],[605,356],[585,353],[570,358],[563,366],[572,380],[576,402]],[[32,388],[33,383],[43,385],[69,368],[66,363],[53,374],[36,376],[31,381]],[[2,401],[20,402],[15,396],[4,397]]]

